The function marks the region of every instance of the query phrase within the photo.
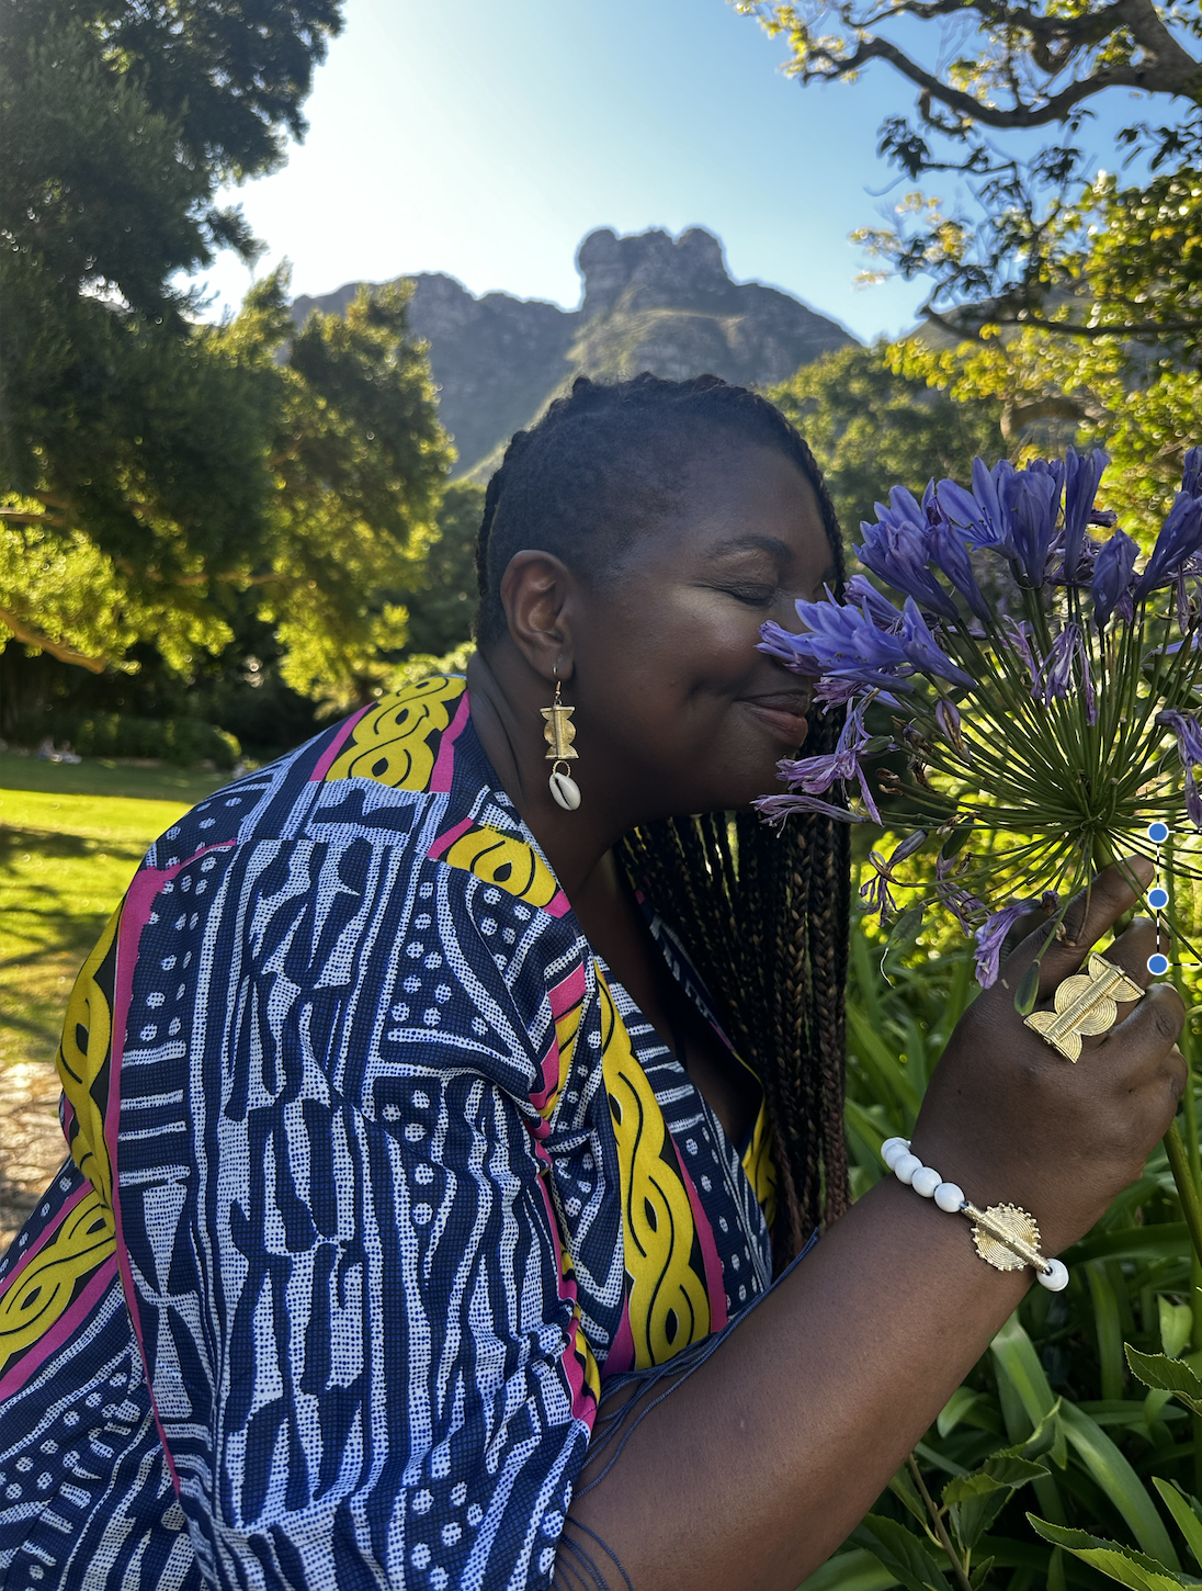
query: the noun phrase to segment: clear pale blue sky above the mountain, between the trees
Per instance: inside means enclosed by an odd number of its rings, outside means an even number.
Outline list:
[[[911,94],[876,67],[801,89],[725,0],[347,0],[310,130],[235,191],[296,293],[444,270],[472,293],[579,302],[598,226],[717,232],[738,280],[805,299],[863,339],[913,323],[921,283],[857,288],[847,240],[903,188],[874,153]],[[250,274],[207,274],[210,313]]]

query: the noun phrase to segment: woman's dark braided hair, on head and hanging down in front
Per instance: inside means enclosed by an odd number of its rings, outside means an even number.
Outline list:
[[[501,576],[520,547],[563,557],[593,582],[676,501],[684,474],[715,441],[782,452],[819,501],[844,578],[835,509],[801,436],[765,398],[717,375],[580,377],[488,482],[477,543],[477,636],[506,633]],[[808,756],[832,751],[841,714],[816,714]],[[793,816],[777,832],[750,813],[700,813],[634,829],[622,842],[631,880],[680,936],[768,1103],[777,1171],[776,1252],[784,1263],[847,1204],[843,1134],[844,983],[851,867],[847,826]]]

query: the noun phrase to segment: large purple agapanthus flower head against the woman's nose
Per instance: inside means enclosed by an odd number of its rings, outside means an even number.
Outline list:
[[[787,794],[762,813],[908,829],[870,853],[862,894],[882,921],[898,889],[943,905],[976,936],[986,986],[1032,901],[1062,912],[1099,861],[1148,853],[1150,819],[1202,831],[1202,447],[1146,558],[1095,506],[1107,463],[978,458],[971,490],[895,487],[855,549],[876,581],[762,632],[825,711],[846,710],[836,749],[782,762]],[[1014,897],[991,910],[998,886]]]

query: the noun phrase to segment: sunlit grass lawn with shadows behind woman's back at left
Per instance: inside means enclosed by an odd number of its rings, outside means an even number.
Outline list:
[[[146,846],[221,773],[0,756],[0,1247],[62,1158],[54,1050]]]

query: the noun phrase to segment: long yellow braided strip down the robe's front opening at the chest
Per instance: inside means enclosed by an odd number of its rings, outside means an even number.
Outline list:
[[[622,1173],[622,1228],[630,1278],[634,1368],[661,1365],[709,1336],[709,1292],[684,1185],[660,1101],[598,974],[601,1072]]]

